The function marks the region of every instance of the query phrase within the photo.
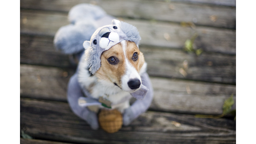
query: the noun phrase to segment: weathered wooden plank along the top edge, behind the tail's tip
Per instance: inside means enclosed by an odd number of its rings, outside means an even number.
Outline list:
[[[200,0],[201,1],[201,0]],[[195,22],[197,25],[206,25],[236,29],[236,8],[213,5],[217,1],[152,1],[152,0],[98,0],[96,1],[67,1],[55,0],[51,3],[41,0],[21,1],[20,7],[26,9],[54,10],[68,12],[79,3],[94,3],[102,7],[108,14],[116,17],[131,17],[139,19],[155,19],[161,21]],[[224,2],[222,2],[224,3]],[[227,2],[229,3],[229,2]],[[221,4],[221,3],[220,3]],[[216,16],[211,19],[211,16]]]

